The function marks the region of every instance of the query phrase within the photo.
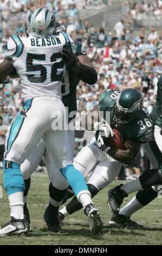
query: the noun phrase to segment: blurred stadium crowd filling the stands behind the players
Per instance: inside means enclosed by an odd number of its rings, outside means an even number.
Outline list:
[[[95,29],[93,24],[82,22],[81,17],[90,8],[100,10],[118,0],[0,0],[2,22],[0,24],[0,61],[4,57],[5,40],[11,35],[9,32],[9,16],[14,14],[17,22],[17,34],[25,34],[21,27],[24,20],[38,7],[46,7],[56,15],[73,40],[79,40],[85,47],[87,56],[92,60],[98,71],[98,82],[93,86],[82,81],[77,86],[77,110],[89,111],[98,105],[100,94],[105,89],[122,90],[125,88],[138,89],[144,99],[144,110],[150,113],[157,94],[157,81],[162,74],[161,51],[162,31],[151,28],[148,33],[142,28],[139,34],[128,29],[133,20],[140,19],[140,15],[152,12],[162,15],[162,1],[122,1],[128,8],[127,16],[119,20],[114,31],[106,33],[103,28]],[[8,77],[8,84],[1,84],[0,88],[0,116],[3,124],[10,126],[17,113],[21,110],[21,83],[19,78]],[[76,122],[77,124],[77,122]],[[77,127],[76,127],[77,129]],[[78,145],[77,145],[78,148]],[[76,149],[77,151],[77,149]]]

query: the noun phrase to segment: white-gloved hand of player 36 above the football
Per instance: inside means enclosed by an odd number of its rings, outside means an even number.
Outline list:
[[[99,130],[101,136],[104,136],[106,138],[114,136],[114,132],[113,132],[111,126],[109,126],[109,124],[104,124],[104,123],[101,123],[101,122],[97,122],[97,123],[94,124],[94,130],[95,131]]]

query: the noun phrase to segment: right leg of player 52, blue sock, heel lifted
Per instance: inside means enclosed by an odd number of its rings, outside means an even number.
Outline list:
[[[88,218],[90,230],[92,233],[98,233],[102,229],[103,223],[99,215],[99,210],[95,208],[92,202],[85,178],[81,172],[73,166],[69,158],[67,158],[67,156],[69,156],[68,152],[70,152],[68,135],[65,131],[55,131],[55,143],[51,144],[51,136],[53,136],[53,132],[53,130],[50,130],[44,134],[44,144],[51,153],[57,168],[60,169],[64,178],[67,179],[77,199],[82,204]],[[65,150],[64,145],[66,145],[68,151]],[[60,155],[62,155],[62,159],[60,159]],[[93,227],[90,225],[89,218],[92,219]]]

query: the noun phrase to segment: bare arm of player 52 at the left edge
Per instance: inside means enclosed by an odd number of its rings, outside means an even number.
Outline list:
[[[10,59],[4,57],[3,62],[0,64],[0,82],[4,81],[12,70],[14,70],[14,66]]]

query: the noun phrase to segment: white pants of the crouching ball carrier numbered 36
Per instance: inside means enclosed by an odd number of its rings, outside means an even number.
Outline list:
[[[92,184],[101,190],[119,175],[122,163],[101,151],[94,137],[88,145],[81,149],[75,157],[73,165],[80,170],[84,177],[92,172],[87,184]]]

